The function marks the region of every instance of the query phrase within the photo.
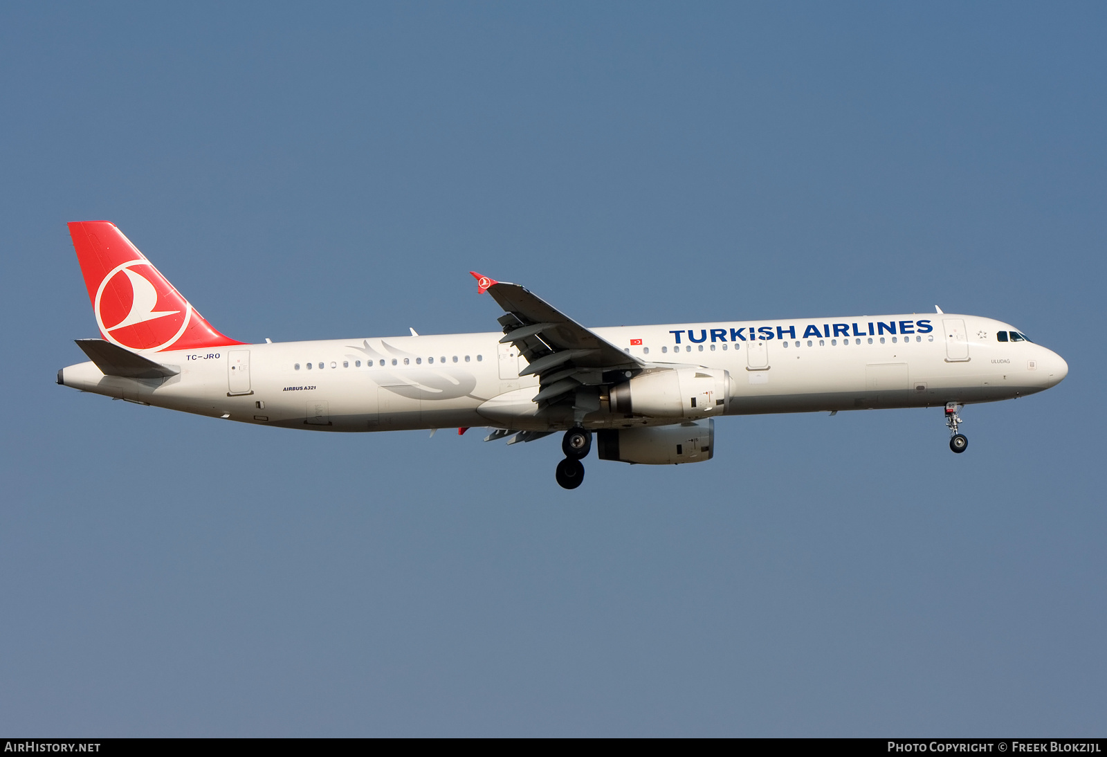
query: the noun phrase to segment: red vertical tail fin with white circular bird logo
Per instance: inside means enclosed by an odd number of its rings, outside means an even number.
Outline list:
[[[137,352],[242,344],[224,336],[108,221],[69,225],[100,333]]]

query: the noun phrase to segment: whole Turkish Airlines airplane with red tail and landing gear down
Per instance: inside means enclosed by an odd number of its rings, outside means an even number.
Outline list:
[[[100,339],[58,383],[142,405],[319,432],[563,432],[557,483],[597,457],[702,463],[724,415],[941,407],[1035,394],[1068,364],[1008,323],[901,313],[589,329],[519,284],[472,272],[499,331],[248,344],[225,336],[115,225],[69,224]]]

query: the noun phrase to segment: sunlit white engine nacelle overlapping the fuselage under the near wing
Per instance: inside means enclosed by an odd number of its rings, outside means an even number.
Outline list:
[[[611,387],[611,412],[661,418],[705,418],[726,409],[730,375],[721,369],[652,370]]]

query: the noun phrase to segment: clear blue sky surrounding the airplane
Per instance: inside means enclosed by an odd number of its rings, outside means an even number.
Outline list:
[[[6,3],[0,730],[1103,735],[1098,3]],[[65,221],[216,328],[968,312],[1066,381],[732,417],[712,462],[54,384]]]

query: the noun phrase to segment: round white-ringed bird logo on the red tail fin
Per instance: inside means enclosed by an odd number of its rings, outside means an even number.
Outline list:
[[[108,342],[153,352],[173,346],[193,319],[188,301],[142,258],[108,271],[96,290],[93,311]]]

